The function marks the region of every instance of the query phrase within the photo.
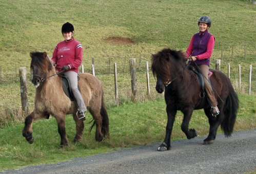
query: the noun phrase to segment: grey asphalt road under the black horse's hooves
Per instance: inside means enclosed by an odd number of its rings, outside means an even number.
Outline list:
[[[172,143],[168,151],[151,144],[72,161],[29,166],[3,173],[245,173],[256,171],[256,129],[218,135],[211,145],[203,138]]]

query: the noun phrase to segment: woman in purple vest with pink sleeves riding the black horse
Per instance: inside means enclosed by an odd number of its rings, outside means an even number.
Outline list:
[[[215,117],[220,114],[217,106],[217,100],[211,88],[208,79],[210,57],[213,52],[215,38],[209,33],[211,27],[211,19],[208,16],[202,16],[198,20],[199,33],[192,36],[189,47],[186,52],[186,57],[194,61],[202,71],[205,81],[205,90],[211,104],[211,113]]]

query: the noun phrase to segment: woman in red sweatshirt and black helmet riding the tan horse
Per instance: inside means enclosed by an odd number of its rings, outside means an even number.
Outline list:
[[[77,117],[85,120],[87,108],[84,99],[77,86],[78,67],[83,60],[83,47],[79,41],[74,39],[74,27],[70,23],[62,26],[64,41],[57,44],[52,55],[52,61],[56,64],[57,71],[64,71],[64,75],[70,81],[70,88],[77,103]]]

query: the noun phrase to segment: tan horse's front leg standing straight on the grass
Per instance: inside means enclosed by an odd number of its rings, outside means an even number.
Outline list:
[[[61,136],[61,147],[68,145],[68,139],[66,135],[66,120],[65,115],[55,116],[58,124],[58,133]]]

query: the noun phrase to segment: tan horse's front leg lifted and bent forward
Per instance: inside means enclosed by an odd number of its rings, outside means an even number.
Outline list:
[[[47,113],[37,113],[33,111],[30,113],[25,119],[25,127],[23,128],[22,135],[26,138],[26,140],[32,144],[34,142],[33,139],[33,121],[42,119],[42,118],[49,118],[49,114]]]

